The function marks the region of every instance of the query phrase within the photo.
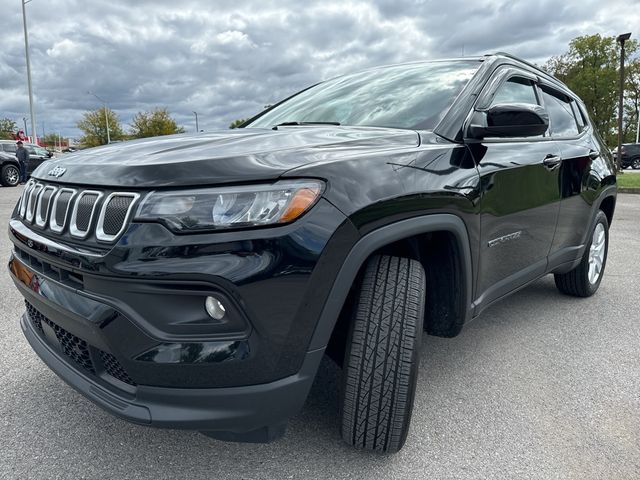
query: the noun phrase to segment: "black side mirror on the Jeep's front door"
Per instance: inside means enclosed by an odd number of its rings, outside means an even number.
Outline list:
[[[469,134],[479,140],[491,137],[535,137],[548,128],[549,115],[540,105],[499,104],[486,112],[475,112]]]

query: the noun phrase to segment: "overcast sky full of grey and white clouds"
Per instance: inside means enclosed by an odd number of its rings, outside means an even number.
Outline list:
[[[1,1],[0,118],[22,125],[20,2]],[[100,106],[87,91],[125,129],[159,106],[210,130],[370,66],[498,50],[544,63],[579,35],[640,37],[640,0],[32,0],[27,17],[38,133],[71,137]]]

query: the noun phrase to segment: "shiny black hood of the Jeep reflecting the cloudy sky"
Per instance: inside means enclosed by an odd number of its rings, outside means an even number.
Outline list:
[[[317,161],[419,143],[417,132],[412,130],[241,128],[91,148],[46,162],[32,176],[68,184],[140,188],[253,182],[274,180],[288,170]]]

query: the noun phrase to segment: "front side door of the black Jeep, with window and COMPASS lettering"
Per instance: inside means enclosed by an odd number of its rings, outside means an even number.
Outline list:
[[[536,77],[509,67],[488,82],[479,105],[540,105]],[[492,138],[470,145],[481,177],[476,313],[544,274],[560,208],[558,145],[539,137]]]

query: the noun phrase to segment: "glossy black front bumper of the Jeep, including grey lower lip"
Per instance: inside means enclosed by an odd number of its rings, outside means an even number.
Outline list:
[[[72,387],[134,423],[268,440],[313,383],[324,346],[309,350],[311,336],[355,230],[320,202],[272,230],[175,236],[132,224],[108,252],[63,244],[17,219],[9,237],[9,269],[27,302],[24,334]],[[194,321],[189,312],[202,312],[211,292],[242,322]],[[165,345],[213,354],[141,357]]]

